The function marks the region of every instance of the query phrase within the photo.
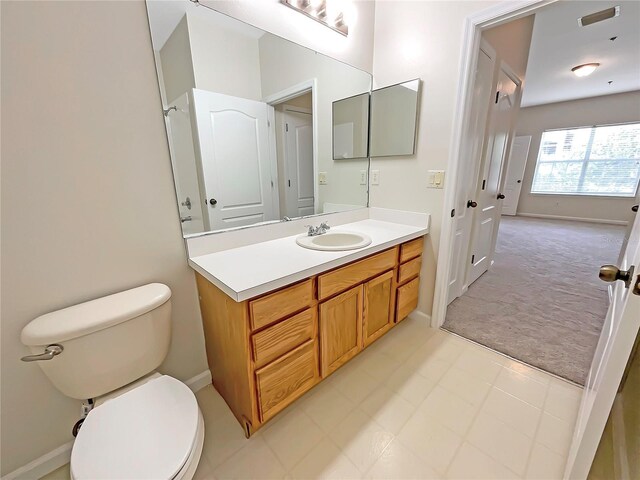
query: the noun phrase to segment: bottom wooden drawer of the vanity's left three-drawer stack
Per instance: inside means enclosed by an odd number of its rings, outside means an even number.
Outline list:
[[[266,421],[319,380],[315,340],[256,371],[260,418]]]

